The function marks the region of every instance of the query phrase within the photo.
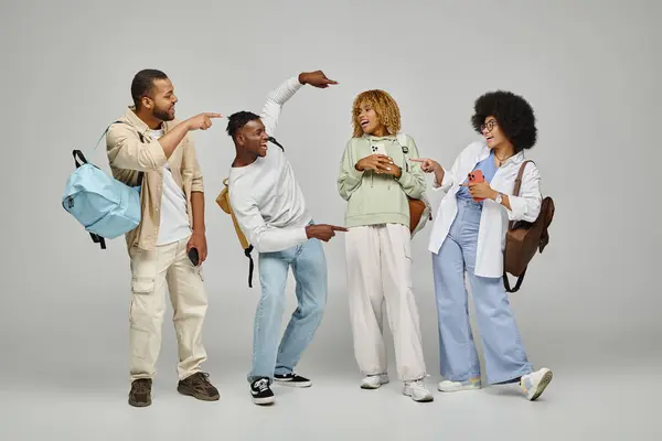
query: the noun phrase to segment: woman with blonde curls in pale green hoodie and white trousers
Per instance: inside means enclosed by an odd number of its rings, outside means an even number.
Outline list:
[[[401,115],[384,90],[360,94],[353,104],[354,133],[346,144],[338,190],[348,202],[345,238],[350,321],[354,355],[365,375],[361,387],[388,383],[382,334],[382,306],[395,343],[395,362],[403,394],[433,401],[424,378],[418,310],[412,291],[408,197],[420,198],[425,174],[408,158],[418,158],[414,139],[398,141]],[[404,141],[403,141],[404,143]]]

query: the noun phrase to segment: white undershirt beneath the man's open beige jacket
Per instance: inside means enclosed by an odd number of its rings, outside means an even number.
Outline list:
[[[152,138],[159,139],[163,130],[150,130]],[[182,189],[177,185],[170,171],[170,165],[163,165],[163,193],[161,195],[161,223],[157,246],[169,245],[185,239],[191,235],[189,215],[186,213],[186,197]]]

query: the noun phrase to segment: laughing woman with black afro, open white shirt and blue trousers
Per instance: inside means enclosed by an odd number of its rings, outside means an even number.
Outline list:
[[[441,391],[478,389],[481,374],[469,323],[467,272],[490,384],[520,383],[530,400],[552,380],[552,370],[534,372],[503,286],[503,249],[509,220],[537,218],[542,195],[536,165],[524,169],[519,196],[513,186],[524,150],[536,141],[533,109],[510,92],[479,97],[471,118],[484,141],[469,144],[450,170],[437,162],[414,160],[435,174],[434,189],[445,193],[430,235],[439,322]],[[469,182],[480,171],[482,182]]]

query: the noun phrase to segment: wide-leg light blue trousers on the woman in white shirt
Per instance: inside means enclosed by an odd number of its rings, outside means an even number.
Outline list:
[[[450,381],[480,377],[471,325],[465,271],[476,306],[490,384],[511,383],[530,374],[532,366],[522,345],[501,278],[473,273],[482,205],[458,198],[458,214],[439,254],[433,254],[435,294],[439,321],[441,375]]]

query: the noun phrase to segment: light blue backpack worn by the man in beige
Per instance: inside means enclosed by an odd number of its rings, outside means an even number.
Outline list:
[[[94,150],[108,132],[108,128]],[[87,162],[81,150],[74,150],[73,154],[76,170],[66,182],[62,206],[85,227],[95,244],[106,249],[105,239],[121,236],[140,224],[143,172],[138,174],[137,186],[129,186]]]

